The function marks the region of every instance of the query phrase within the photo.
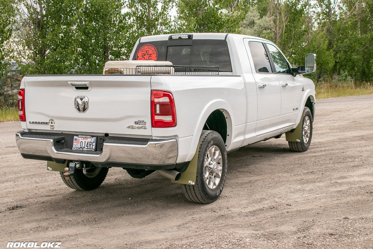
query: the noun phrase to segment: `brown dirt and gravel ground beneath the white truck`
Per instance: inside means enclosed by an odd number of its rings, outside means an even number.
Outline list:
[[[220,198],[190,203],[179,184],[111,168],[96,190],[69,189],[23,159],[19,122],[0,123],[0,249],[373,248],[373,95],[317,100],[310,149],[285,136],[228,155]]]

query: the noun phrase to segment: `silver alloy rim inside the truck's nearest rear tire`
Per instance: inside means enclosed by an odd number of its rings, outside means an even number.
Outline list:
[[[217,146],[211,146],[204,160],[203,180],[209,189],[215,189],[220,182],[223,172],[222,153]]]

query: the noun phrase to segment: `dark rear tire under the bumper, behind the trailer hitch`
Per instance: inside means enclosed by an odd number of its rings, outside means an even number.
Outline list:
[[[66,186],[76,190],[94,190],[97,189],[106,178],[109,168],[95,167],[87,169],[86,174],[82,169],[75,169],[70,174],[69,179],[65,179],[64,172],[60,172],[62,181]]]

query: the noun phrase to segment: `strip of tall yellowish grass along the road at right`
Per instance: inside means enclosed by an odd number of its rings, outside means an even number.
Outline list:
[[[316,84],[316,99],[373,94],[372,83],[322,82]]]

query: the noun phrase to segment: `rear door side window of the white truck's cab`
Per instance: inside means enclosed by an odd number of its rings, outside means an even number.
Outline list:
[[[255,71],[261,73],[272,72],[266,49],[264,49],[264,44],[258,41],[249,41],[248,44],[251,57],[253,57]]]

